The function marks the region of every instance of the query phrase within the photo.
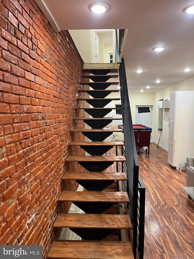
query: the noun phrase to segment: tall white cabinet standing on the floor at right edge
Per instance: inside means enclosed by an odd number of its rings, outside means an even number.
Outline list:
[[[185,168],[187,157],[194,157],[194,91],[170,94],[169,147],[170,165]]]

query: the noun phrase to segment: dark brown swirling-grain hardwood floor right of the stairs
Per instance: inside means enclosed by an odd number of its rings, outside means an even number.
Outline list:
[[[194,202],[181,188],[186,170],[172,168],[167,157],[153,143],[150,155],[138,155],[146,187],[144,259],[194,258]]]

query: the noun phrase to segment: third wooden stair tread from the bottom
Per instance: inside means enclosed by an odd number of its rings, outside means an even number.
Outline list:
[[[129,203],[129,197],[126,192],[62,191],[58,201]]]

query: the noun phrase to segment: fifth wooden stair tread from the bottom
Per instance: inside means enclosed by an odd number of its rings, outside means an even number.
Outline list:
[[[126,158],[124,156],[70,155],[66,158],[66,161],[67,162],[126,162]]]

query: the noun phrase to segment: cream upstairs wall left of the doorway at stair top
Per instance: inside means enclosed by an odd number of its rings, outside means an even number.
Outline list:
[[[84,63],[95,63],[93,53],[93,30],[69,30]]]

